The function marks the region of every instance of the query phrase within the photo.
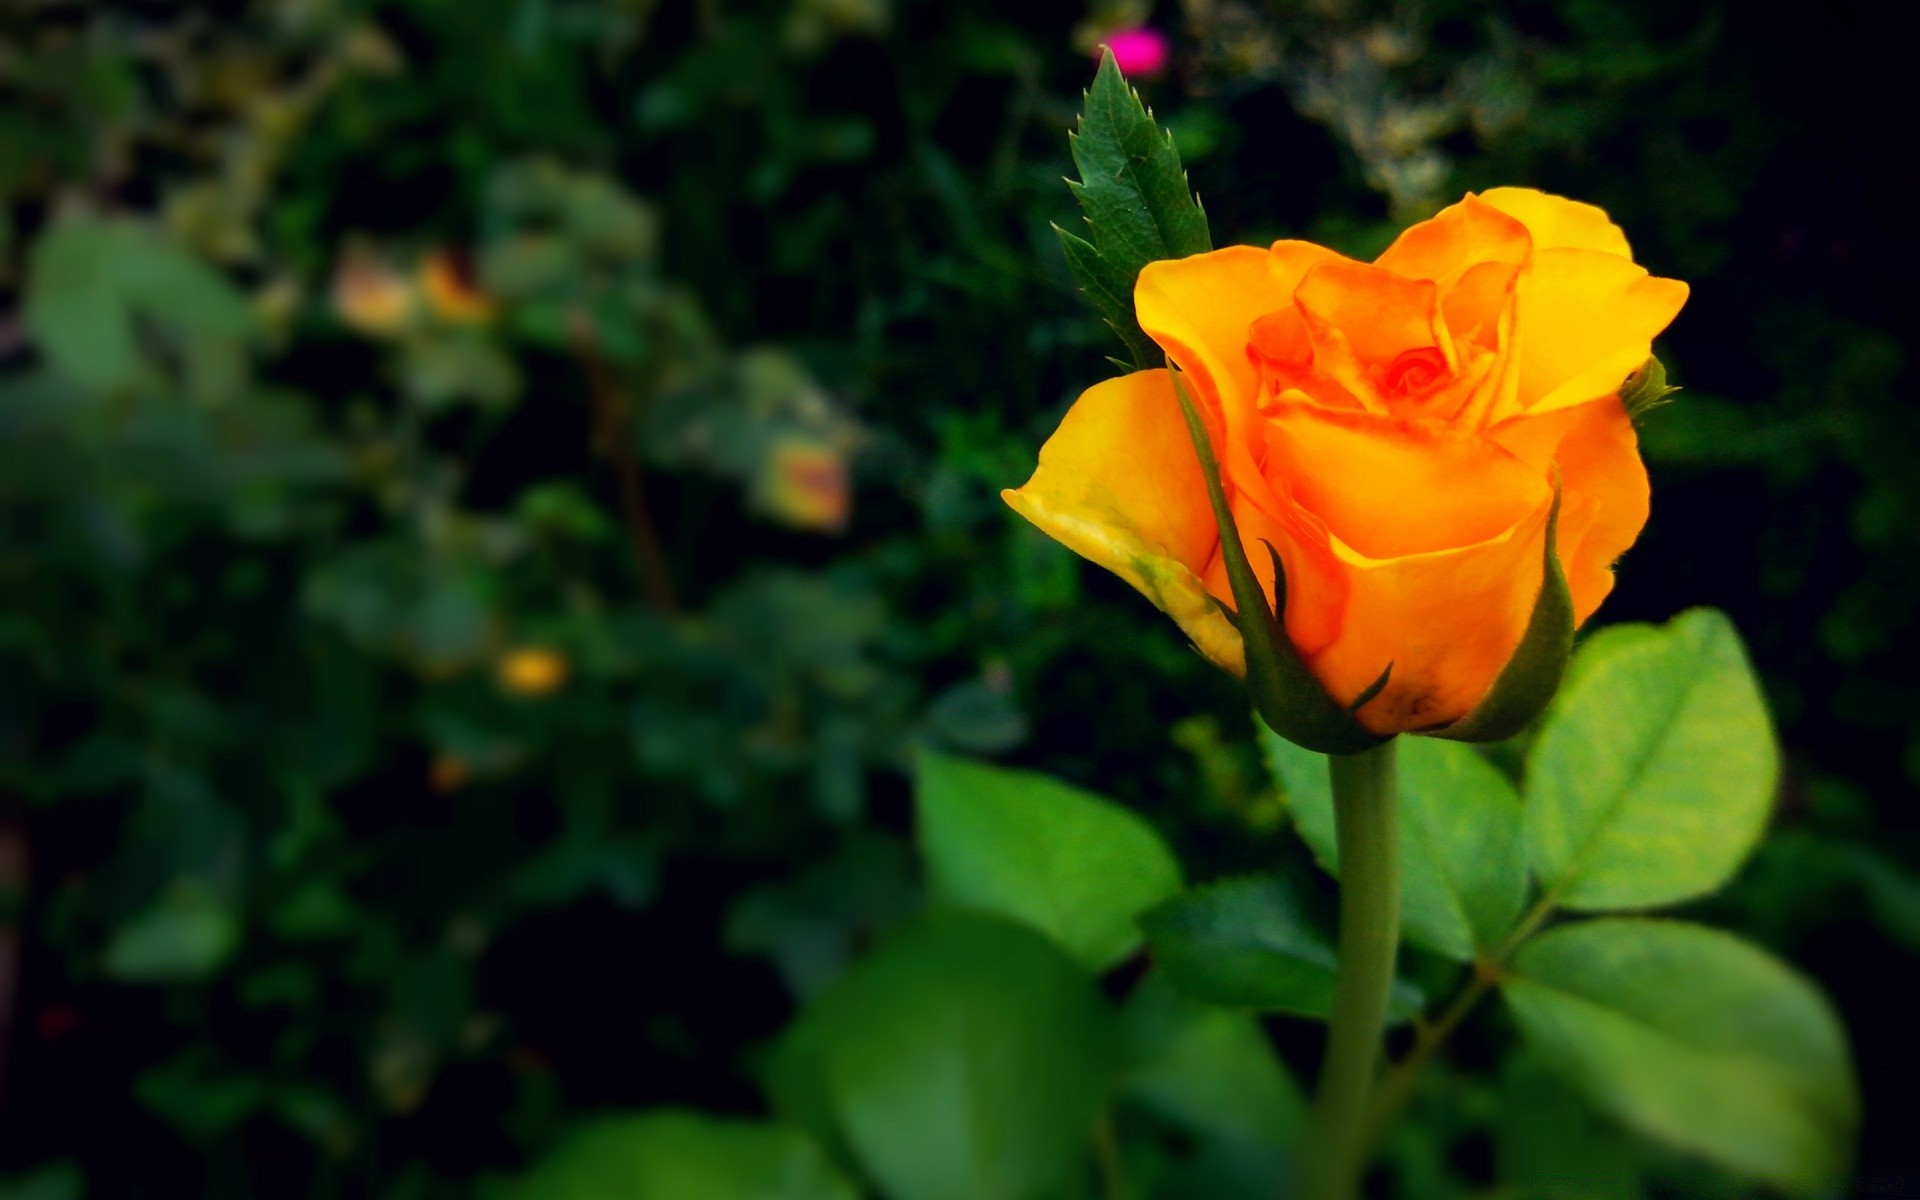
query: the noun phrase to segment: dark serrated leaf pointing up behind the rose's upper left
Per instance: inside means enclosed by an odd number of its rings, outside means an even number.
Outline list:
[[[1100,56],[1068,144],[1081,175],[1068,188],[1091,238],[1054,227],[1060,246],[1094,311],[1127,344],[1135,367],[1146,367],[1160,355],[1133,315],[1133,282],[1148,263],[1212,250],[1206,211],[1187,186],[1173,134],[1154,123],[1112,52]]]

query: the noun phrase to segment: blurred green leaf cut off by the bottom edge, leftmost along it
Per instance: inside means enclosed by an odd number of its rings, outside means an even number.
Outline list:
[[[570,1135],[511,1200],[856,1200],[803,1135],[762,1121],[645,1112]]]

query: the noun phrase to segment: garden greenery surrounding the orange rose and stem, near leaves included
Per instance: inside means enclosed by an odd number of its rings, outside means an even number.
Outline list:
[[[1142,349],[1089,255],[1498,182],[1699,290],[1617,624],[1528,733],[1405,751],[1400,1012],[1490,995],[1382,1169],[1897,1169],[1914,261],[1822,131],[1905,33],[1125,8],[8,12],[0,1194],[1271,1194],[1319,776],[995,493]],[[1208,202],[1158,248],[1060,184],[1102,211],[1129,15]],[[1697,603],[1757,678],[1640,624]]]

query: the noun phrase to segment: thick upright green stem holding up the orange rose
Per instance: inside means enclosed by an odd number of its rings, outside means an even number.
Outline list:
[[[1400,948],[1400,797],[1394,743],[1327,758],[1340,843],[1340,964],[1315,1110],[1313,1200],[1352,1200],[1365,1171],[1367,1094]]]

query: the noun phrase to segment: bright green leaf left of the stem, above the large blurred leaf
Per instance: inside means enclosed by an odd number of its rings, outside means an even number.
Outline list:
[[[1135,918],[1181,889],[1152,826],[1046,776],[924,753],[914,803],[941,900],[1023,920],[1094,972],[1131,954]]]

